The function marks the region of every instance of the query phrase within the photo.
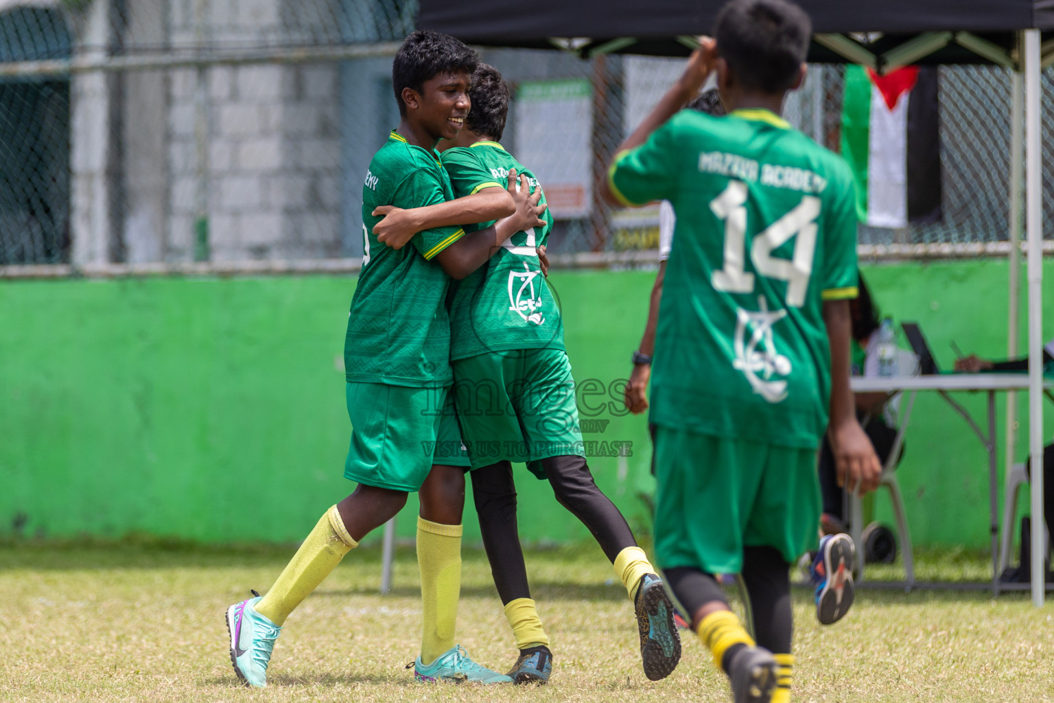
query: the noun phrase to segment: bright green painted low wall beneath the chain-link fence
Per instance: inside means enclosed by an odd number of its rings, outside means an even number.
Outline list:
[[[1007,273],[1004,261],[866,269],[883,310],[919,320],[945,366],[952,339],[1003,353]],[[632,443],[590,465],[635,528],[648,523],[637,493],[650,488],[650,446],[611,386],[629,371],[652,278],[551,278],[583,417],[608,421],[586,440]],[[0,535],[301,539],[352,488],[340,353],[353,289],[337,276],[0,281]],[[1054,294],[1045,317],[1054,334]],[[919,397],[899,475],[917,543],[987,544],[983,450],[936,396]],[[546,484],[522,472],[520,488],[525,539],[588,536]],[[476,536],[474,515],[466,525]]]

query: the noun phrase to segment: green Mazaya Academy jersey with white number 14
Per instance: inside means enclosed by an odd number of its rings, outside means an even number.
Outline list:
[[[683,111],[608,174],[626,204],[677,213],[651,421],[815,447],[826,429],[824,300],[856,297],[853,176],[764,110]]]

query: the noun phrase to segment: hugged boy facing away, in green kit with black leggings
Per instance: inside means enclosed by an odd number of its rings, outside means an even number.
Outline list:
[[[499,143],[509,105],[501,74],[480,64],[469,95],[466,129],[443,152],[454,194],[494,188],[494,179],[511,171],[526,174],[536,191],[530,171]],[[430,208],[385,212],[392,218],[390,236],[435,223]],[[548,479],[557,500],[589,528],[613,564],[636,605],[644,671],[659,680],[681,655],[674,606],[583,455],[563,321],[535,253],[552,226],[549,213],[544,217],[544,227],[513,235],[485,266],[458,281],[450,297],[454,398],[471,460],[472,494],[494,584],[520,649],[509,676],[518,683],[544,683],[552,668],[518,534],[511,464],[523,462],[539,479]]]

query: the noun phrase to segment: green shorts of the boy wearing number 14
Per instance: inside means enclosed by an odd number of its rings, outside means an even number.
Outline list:
[[[658,427],[656,559],[738,573],[744,547],[774,547],[793,563],[816,546],[816,450]]]

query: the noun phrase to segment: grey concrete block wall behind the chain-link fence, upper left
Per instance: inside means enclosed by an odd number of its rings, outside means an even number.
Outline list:
[[[227,48],[333,41],[335,1],[314,0],[294,12],[287,0],[209,0],[196,25],[195,0],[131,0],[139,19],[126,31],[132,41],[156,44],[167,36],[183,50],[202,39]],[[109,7],[109,0],[93,5],[83,44],[108,43]],[[336,62],[204,69],[203,189],[213,260],[345,253],[338,77]],[[202,188],[197,94],[196,69],[75,77],[75,262],[193,259]]]

